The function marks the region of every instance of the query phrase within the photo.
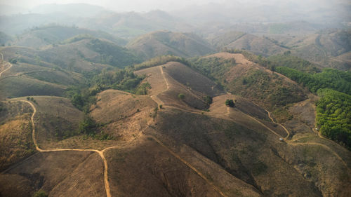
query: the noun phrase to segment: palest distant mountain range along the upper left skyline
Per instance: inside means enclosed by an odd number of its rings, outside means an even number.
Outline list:
[[[69,7],[69,5],[64,5],[64,7]],[[93,12],[93,17],[89,17],[86,15],[90,15],[90,12],[84,9],[81,11],[78,8],[76,11],[76,8],[76,5],[72,5],[72,8],[69,9],[65,8],[69,13],[44,11],[42,13],[2,15],[0,16],[0,31],[15,35],[22,34],[27,29],[58,24],[108,32],[123,39],[131,39],[141,34],[163,29],[178,32],[189,32],[192,29],[192,26],[188,25],[185,20],[163,11],[150,11],[149,13],[102,11],[96,14]],[[81,12],[84,14],[76,14]]]

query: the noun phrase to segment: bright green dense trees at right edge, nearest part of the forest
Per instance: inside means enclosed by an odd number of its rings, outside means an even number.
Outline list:
[[[336,90],[320,89],[317,103],[317,125],[322,135],[351,149],[351,95]]]

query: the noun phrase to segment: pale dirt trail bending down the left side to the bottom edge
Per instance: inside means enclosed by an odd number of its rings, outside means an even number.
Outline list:
[[[55,152],[55,151],[93,151],[96,152],[100,155],[101,159],[102,159],[102,163],[104,165],[104,184],[105,184],[105,190],[106,190],[106,196],[107,197],[111,197],[111,192],[110,192],[110,182],[108,179],[108,166],[107,166],[107,160],[103,154],[103,150],[99,151],[99,150],[95,150],[95,149],[41,149],[38,146],[37,143],[37,139],[35,138],[35,125],[34,125],[34,116],[37,113],[37,108],[34,106],[34,104],[32,104],[32,102],[29,102],[27,100],[20,100],[20,102],[27,102],[28,104],[30,104],[30,106],[33,109],[33,114],[30,117],[30,120],[32,121],[32,140],[35,146],[35,149],[37,149],[37,151],[39,152]]]

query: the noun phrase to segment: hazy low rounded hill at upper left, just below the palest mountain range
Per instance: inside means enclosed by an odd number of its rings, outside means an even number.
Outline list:
[[[14,46],[25,46],[30,48],[40,48],[51,44],[59,44],[74,36],[91,36],[97,39],[105,39],[118,45],[126,44],[124,39],[107,34],[106,32],[93,31],[90,29],[82,29],[78,27],[65,27],[60,25],[46,25],[43,27],[34,27],[24,34],[18,36],[11,42]]]

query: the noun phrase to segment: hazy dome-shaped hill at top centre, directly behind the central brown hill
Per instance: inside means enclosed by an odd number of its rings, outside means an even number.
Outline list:
[[[134,39],[127,48],[145,60],[160,55],[193,57],[212,53],[211,46],[195,34],[168,31],[152,32]]]

